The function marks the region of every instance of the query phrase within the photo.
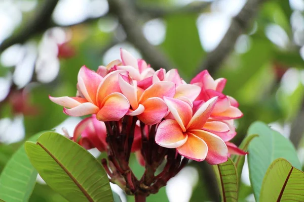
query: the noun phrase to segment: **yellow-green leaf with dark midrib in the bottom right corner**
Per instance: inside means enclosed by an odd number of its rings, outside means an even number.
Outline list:
[[[260,201],[304,201],[304,173],[287,160],[276,159],[263,179]]]

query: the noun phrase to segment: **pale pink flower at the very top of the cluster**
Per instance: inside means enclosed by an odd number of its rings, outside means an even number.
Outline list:
[[[123,48],[121,48],[121,60],[122,65],[117,65],[117,69],[128,71],[133,80],[141,81],[155,73],[155,70],[149,67],[144,60],[134,58]]]

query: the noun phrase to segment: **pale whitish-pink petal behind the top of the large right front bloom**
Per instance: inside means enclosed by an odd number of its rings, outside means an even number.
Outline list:
[[[191,102],[194,102],[194,100],[197,98],[197,96],[201,92],[201,87],[197,85],[192,84],[181,84],[176,87],[176,92],[174,97],[187,97],[191,100]]]

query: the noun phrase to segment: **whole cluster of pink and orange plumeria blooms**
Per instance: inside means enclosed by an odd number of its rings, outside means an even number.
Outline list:
[[[121,49],[121,60],[100,66],[96,72],[85,66],[80,69],[77,96],[50,99],[69,116],[92,115],[73,135],[86,149],[106,151],[107,129],[113,127],[107,123],[115,121],[121,133],[126,117],[135,122],[132,151],[141,149],[142,133],[147,137],[149,128],[155,126],[158,145],[176,148],[188,159],[219,164],[230,154],[246,154],[229,142],[236,135],[234,120],[242,113],[238,102],[222,93],[225,83],[226,79],[214,80],[204,70],[188,84],[176,69],[155,71]],[[137,154],[141,159],[143,154]]]

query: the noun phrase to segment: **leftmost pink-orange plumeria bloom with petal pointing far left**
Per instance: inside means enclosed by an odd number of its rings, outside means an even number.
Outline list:
[[[50,99],[63,106],[63,112],[70,116],[96,114],[99,121],[118,121],[126,115],[130,108],[127,98],[120,90],[119,74],[127,73],[118,70],[102,77],[83,66],[78,74],[78,88],[81,97],[50,96]]]

